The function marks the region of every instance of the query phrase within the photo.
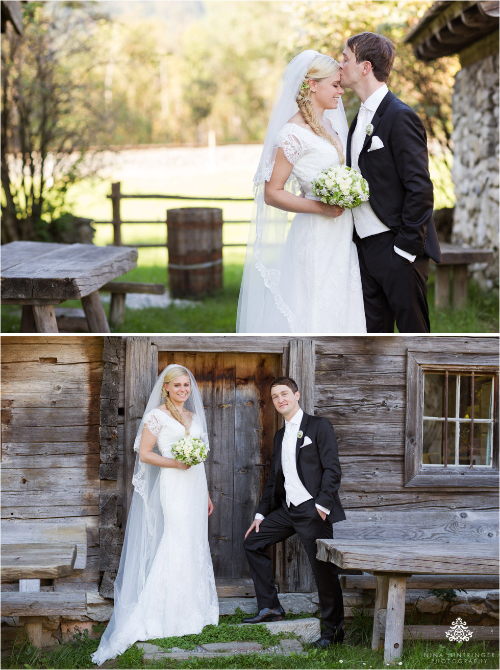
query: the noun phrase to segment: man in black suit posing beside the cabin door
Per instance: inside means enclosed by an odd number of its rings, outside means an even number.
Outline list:
[[[326,631],[314,644],[324,649],[344,639],[344,603],[337,567],[316,558],[316,540],[332,539],[332,523],[346,515],[338,497],[341,472],[332,424],[303,412],[299,398],[293,379],[278,377],[271,383],[271,399],[283,415],[285,427],[274,436],[271,476],[245,535],[259,614],[243,622],[257,624],[285,618],[267,548],[297,533],[318,585]]]

